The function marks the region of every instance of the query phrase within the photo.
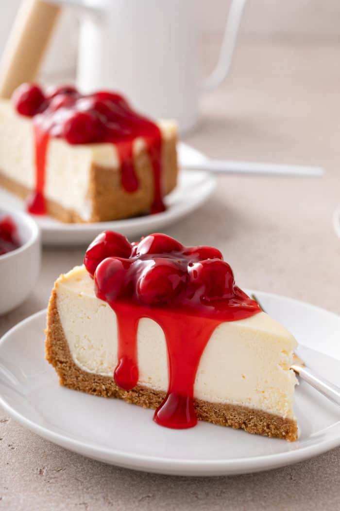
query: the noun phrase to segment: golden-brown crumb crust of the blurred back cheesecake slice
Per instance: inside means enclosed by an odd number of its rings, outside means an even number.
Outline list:
[[[177,184],[176,142],[177,139],[173,136],[169,140],[163,140],[162,144],[162,186],[164,195],[170,193]],[[121,186],[119,168],[100,167],[92,164],[87,193],[91,211],[90,218],[84,220],[76,211],[65,208],[50,199],[46,200],[48,215],[65,223],[93,223],[120,220],[148,212],[153,201],[154,183],[151,162],[145,149],[135,157],[135,170],[139,180],[139,189],[136,192],[128,193]],[[0,187],[9,190],[22,199],[27,198],[32,192],[21,183],[2,173],[1,170]],[[67,187],[67,183],[65,183],[65,187]]]

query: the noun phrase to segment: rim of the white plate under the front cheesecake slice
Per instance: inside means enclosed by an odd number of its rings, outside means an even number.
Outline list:
[[[290,307],[299,307],[301,308],[301,310],[303,309],[306,310],[306,308],[310,309],[310,313],[316,315],[319,314],[320,316],[323,317],[325,317],[326,314],[326,318],[333,318],[332,319],[333,321],[339,323],[340,328],[340,317],[335,313],[326,311],[325,309],[322,309],[320,307],[307,304],[303,301],[296,300],[294,298],[288,298],[273,293],[252,290],[246,290],[246,292],[248,293],[255,292],[256,296],[260,299],[260,301],[261,300],[265,301],[266,308],[268,308],[268,304],[269,308],[274,307],[274,309],[276,306],[280,307],[286,304],[289,305]],[[4,345],[7,342],[9,343],[18,342],[17,340],[15,341],[16,334],[18,332],[23,332],[30,326],[39,327],[40,329],[40,327],[43,326],[45,322],[45,314],[46,310],[42,310],[29,316],[28,318],[19,322],[10,331],[8,331],[2,337],[2,339],[0,339],[0,387],[2,383],[1,358],[3,354],[2,352],[4,349]],[[46,367],[49,367],[47,362]],[[57,375],[55,375],[55,381],[56,386],[58,386]],[[67,392],[74,392],[68,389],[65,390]],[[88,394],[84,395],[88,396]],[[23,397],[24,399],[23,395],[21,397]],[[324,431],[322,431],[323,436],[318,433],[311,434],[310,438],[314,440],[311,443],[311,445],[308,445],[307,443],[307,445],[300,447],[298,442],[292,444],[284,443],[284,445],[289,445],[290,447],[292,447],[292,449],[287,450],[285,452],[279,452],[274,454],[270,453],[271,452],[270,443],[273,441],[284,442],[284,440],[271,439],[267,437],[265,438],[257,437],[257,435],[249,435],[249,433],[245,434],[247,436],[248,435],[251,437],[253,436],[255,442],[257,438],[264,438],[266,442],[268,442],[269,454],[264,454],[260,456],[256,455],[249,457],[236,457],[228,459],[186,459],[171,458],[167,456],[143,455],[138,453],[132,454],[124,450],[109,449],[103,446],[99,446],[98,444],[96,445],[95,441],[92,443],[84,442],[82,439],[74,439],[70,435],[55,432],[49,429],[48,427],[39,424],[38,422],[32,421],[29,417],[21,413],[20,410],[17,409],[17,407],[11,406],[11,404],[6,400],[4,396],[2,396],[1,393],[0,404],[4,407],[7,413],[11,417],[13,417],[14,420],[19,422],[22,426],[27,427],[28,429],[38,434],[39,436],[47,440],[50,440],[51,442],[59,446],[62,446],[66,449],[120,467],[169,475],[212,476],[212,475],[237,475],[251,472],[259,472],[303,461],[313,456],[322,454],[340,445],[340,420],[338,420],[328,428],[325,428]],[[125,403],[124,405],[130,406]],[[153,424],[152,421],[150,421],[150,424]],[[208,426],[210,428],[218,428],[218,426],[213,425]],[[231,432],[234,431],[231,430],[231,428],[225,429],[228,429]]]

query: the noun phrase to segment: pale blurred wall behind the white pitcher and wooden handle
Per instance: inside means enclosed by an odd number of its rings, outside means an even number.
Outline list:
[[[0,51],[3,50],[20,0],[3,2],[1,5]],[[204,70],[210,69],[218,54],[225,20],[229,11],[228,0],[196,0],[196,22],[200,33]],[[340,39],[340,3],[336,0],[248,0],[241,21],[241,41],[274,40],[305,42],[313,44],[320,40]],[[41,76],[48,81],[63,79],[75,74],[76,49],[79,19],[72,9],[64,9],[58,21],[53,41],[50,44]],[[67,52],[65,52],[67,41]],[[206,56],[206,46],[211,46],[211,55]],[[214,53],[215,51],[215,53]]]

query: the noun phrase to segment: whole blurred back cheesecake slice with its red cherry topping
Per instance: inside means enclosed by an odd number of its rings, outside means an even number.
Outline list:
[[[174,122],[154,124],[119,95],[24,84],[0,100],[0,187],[63,222],[157,213],[176,186],[176,141]]]

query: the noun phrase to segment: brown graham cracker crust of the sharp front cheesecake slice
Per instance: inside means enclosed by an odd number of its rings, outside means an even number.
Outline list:
[[[127,403],[157,408],[165,398],[165,392],[136,385],[132,390],[119,388],[113,377],[100,376],[84,371],[71,356],[57,309],[57,292],[53,290],[47,311],[45,355],[59,376],[59,383],[73,390],[81,390],[106,398],[119,398]],[[202,400],[194,402],[197,418],[219,426],[242,428],[248,433],[277,437],[294,442],[297,439],[297,423],[279,415],[245,406],[211,403]]]

